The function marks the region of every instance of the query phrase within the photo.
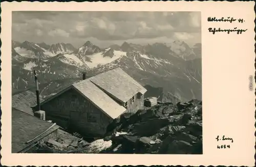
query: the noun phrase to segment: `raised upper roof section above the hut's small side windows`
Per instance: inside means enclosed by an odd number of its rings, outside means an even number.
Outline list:
[[[82,85],[83,82],[87,82],[87,80],[91,80],[95,85],[115,96],[122,102],[128,101],[138,92],[142,94],[146,92],[144,87],[121,68],[103,72],[86,80],[82,80],[79,84]]]

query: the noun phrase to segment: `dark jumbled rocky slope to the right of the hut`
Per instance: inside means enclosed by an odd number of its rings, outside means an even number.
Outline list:
[[[202,101],[160,103],[125,113],[109,126],[99,153],[202,154]]]

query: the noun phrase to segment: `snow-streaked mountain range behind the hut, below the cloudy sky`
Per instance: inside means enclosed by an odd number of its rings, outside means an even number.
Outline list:
[[[33,70],[38,74],[40,96],[49,98],[82,79],[121,67],[148,91],[167,102],[202,98],[201,44],[139,45],[124,42],[100,48],[90,41],[75,48],[69,43],[12,41],[12,91],[34,90]]]

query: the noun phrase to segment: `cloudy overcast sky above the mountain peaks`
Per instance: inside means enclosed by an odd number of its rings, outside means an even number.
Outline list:
[[[201,43],[200,12],[12,12],[12,40],[100,47],[185,41]]]

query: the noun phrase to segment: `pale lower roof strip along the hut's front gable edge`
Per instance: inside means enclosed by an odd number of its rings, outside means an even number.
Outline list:
[[[89,79],[73,84],[73,86],[113,119],[126,110],[126,108],[96,87]]]

